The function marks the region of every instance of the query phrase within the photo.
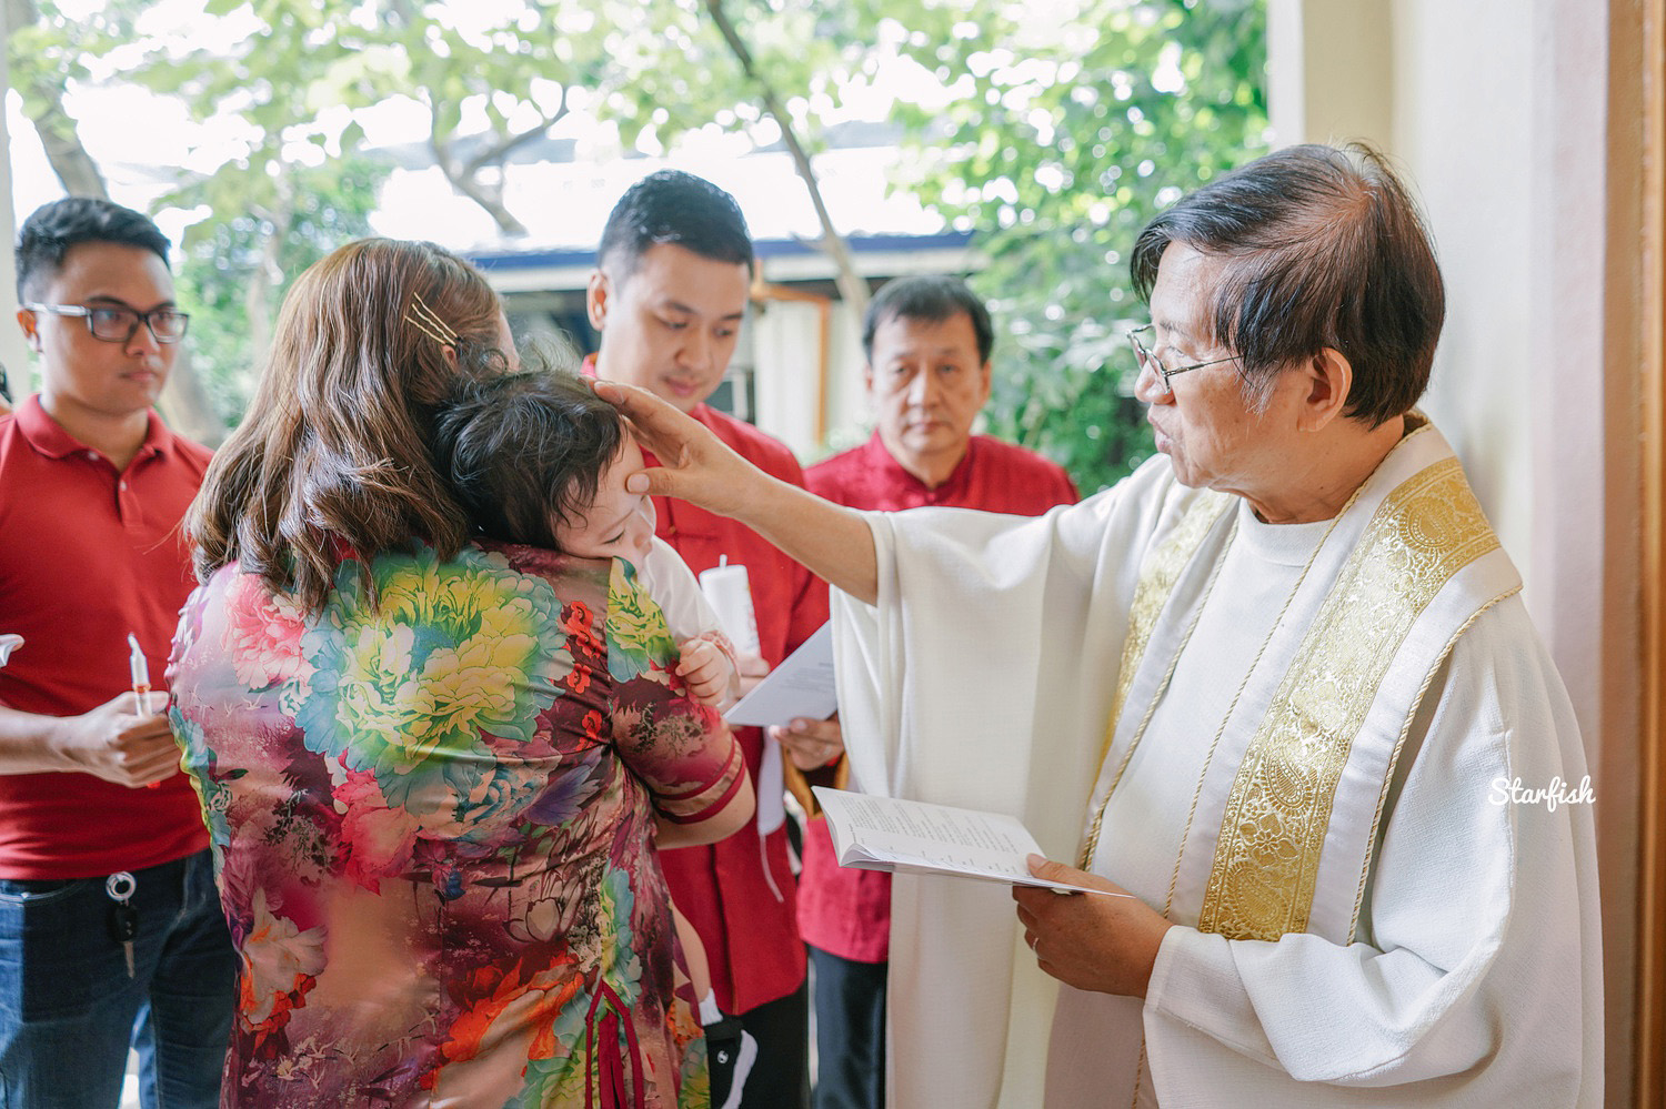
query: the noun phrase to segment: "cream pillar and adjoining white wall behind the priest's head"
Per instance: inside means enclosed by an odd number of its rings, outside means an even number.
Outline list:
[[[1521,0],[1271,0],[1274,145],[1363,138],[1424,205],[1448,285],[1424,408],[1533,594],[1533,20]],[[1476,50],[1484,42],[1486,50]],[[1364,73],[1364,77],[1351,77]]]

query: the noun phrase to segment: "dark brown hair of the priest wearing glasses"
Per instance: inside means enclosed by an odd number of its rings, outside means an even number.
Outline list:
[[[1371,147],[1289,147],[1185,196],[1135,243],[1145,300],[1170,243],[1225,263],[1206,338],[1241,358],[1251,396],[1324,348],[1353,365],[1344,415],[1373,428],[1428,388],[1446,288],[1416,203]]]

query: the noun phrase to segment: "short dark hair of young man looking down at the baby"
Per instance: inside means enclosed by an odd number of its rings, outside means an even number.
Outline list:
[[[711,182],[681,170],[650,173],[625,190],[601,228],[596,263],[613,266],[615,276],[625,280],[656,243],[753,268],[751,235],[740,205]]]

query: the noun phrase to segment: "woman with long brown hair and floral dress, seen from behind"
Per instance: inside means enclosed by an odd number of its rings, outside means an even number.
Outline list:
[[[468,263],[343,246],[187,520],[168,684],[243,964],[228,1106],[705,1104],[655,844],[751,786],[625,563],[475,536],[435,416],[515,365]]]

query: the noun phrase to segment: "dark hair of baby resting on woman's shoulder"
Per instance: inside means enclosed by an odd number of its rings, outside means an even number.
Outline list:
[[[570,373],[460,381],[435,416],[435,465],[480,535],[558,550],[556,521],[581,523],[625,441],[618,410]]]

